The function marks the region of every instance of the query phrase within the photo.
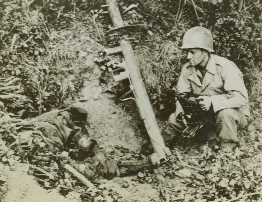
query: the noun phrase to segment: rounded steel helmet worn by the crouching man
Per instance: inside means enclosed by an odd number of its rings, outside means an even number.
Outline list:
[[[203,48],[214,52],[213,37],[210,31],[204,27],[193,27],[185,33],[180,49]]]

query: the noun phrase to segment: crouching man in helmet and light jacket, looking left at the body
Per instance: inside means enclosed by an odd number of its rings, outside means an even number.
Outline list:
[[[178,95],[198,95],[196,100],[201,110],[211,113],[209,123],[198,133],[205,136],[206,142],[218,139],[222,149],[232,148],[238,142],[237,131],[247,125],[250,115],[243,74],[232,61],[211,54],[213,38],[206,28],[189,29],[180,48],[187,51],[188,62],[177,83]],[[184,111],[177,101],[176,112],[169,117],[172,126],[181,132],[190,118],[184,116]]]

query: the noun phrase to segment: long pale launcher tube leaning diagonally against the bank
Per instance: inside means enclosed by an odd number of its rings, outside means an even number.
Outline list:
[[[123,27],[123,19],[121,17],[116,0],[105,0],[108,6],[108,12],[115,28]],[[141,118],[144,120],[144,124],[148,135],[150,137],[151,144],[157,153],[160,161],[167,160],[166,154],[170,155],[169,148],[165,146],[160,130],[157,126],[156,117],[151,107],[151,103],[146,92],[146,88],[139,71],[138,62],[135,58],[134,51],[131,44],[125,39],[121,39],[119,42],[122,53],[127,64],[128,71],[130,73],[130,79],[134,86],[134,91],[137,96],[137,105],[139,107],[140,115],[144,115]]]

